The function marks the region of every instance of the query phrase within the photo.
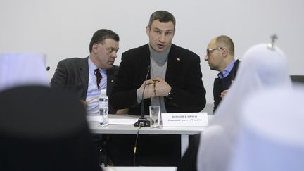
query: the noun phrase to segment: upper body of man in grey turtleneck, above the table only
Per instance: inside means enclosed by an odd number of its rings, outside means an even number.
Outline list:
[[[205,107],[205,88],[199,56],[172,44],[175,18],[167,11],[151,15],[146,34],[149,43],[122,53],[122,62],[110,102],[140,114],[144,84],[145,113],[158,105],[161,113],[200,112]],[[145,82],[147,68],[151,70]]]

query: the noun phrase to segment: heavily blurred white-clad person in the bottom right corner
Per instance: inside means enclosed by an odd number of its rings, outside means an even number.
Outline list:
[[[298,84],[260,91],[244,103],[230,171],[304,170],[303,96]]]

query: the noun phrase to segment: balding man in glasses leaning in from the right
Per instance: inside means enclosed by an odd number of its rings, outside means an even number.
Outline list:
[[[213,112],[215,112],[220,101],[227,94],[239,66],[239,60],[234,59],[234,42],[232,42],[232,39],[225,35],[211,39],[207,47],[205,61],[208,62],[211,70],[220,71],[213,84]]]

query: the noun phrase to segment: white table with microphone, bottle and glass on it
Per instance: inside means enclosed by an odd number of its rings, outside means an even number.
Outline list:
[[[109,115],[109,118],[130,119],[139,118],[139,115]],[[147,116],[146,116],[147,117]],[[213,116],[208,115],[208,120]],[[137,134],[138,127],[134,125],[108,125],[102,127],[99,122],[89,121],[89,129],[96,134]],[[206,127],[142,127],[139,134],[180,134],[181,135],[181,157],[188,148],[189,135],[200,134]]]

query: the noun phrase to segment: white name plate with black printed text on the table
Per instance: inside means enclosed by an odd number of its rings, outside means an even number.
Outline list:
[[[163,127],[208,126],[207,113],[162,113]]]

